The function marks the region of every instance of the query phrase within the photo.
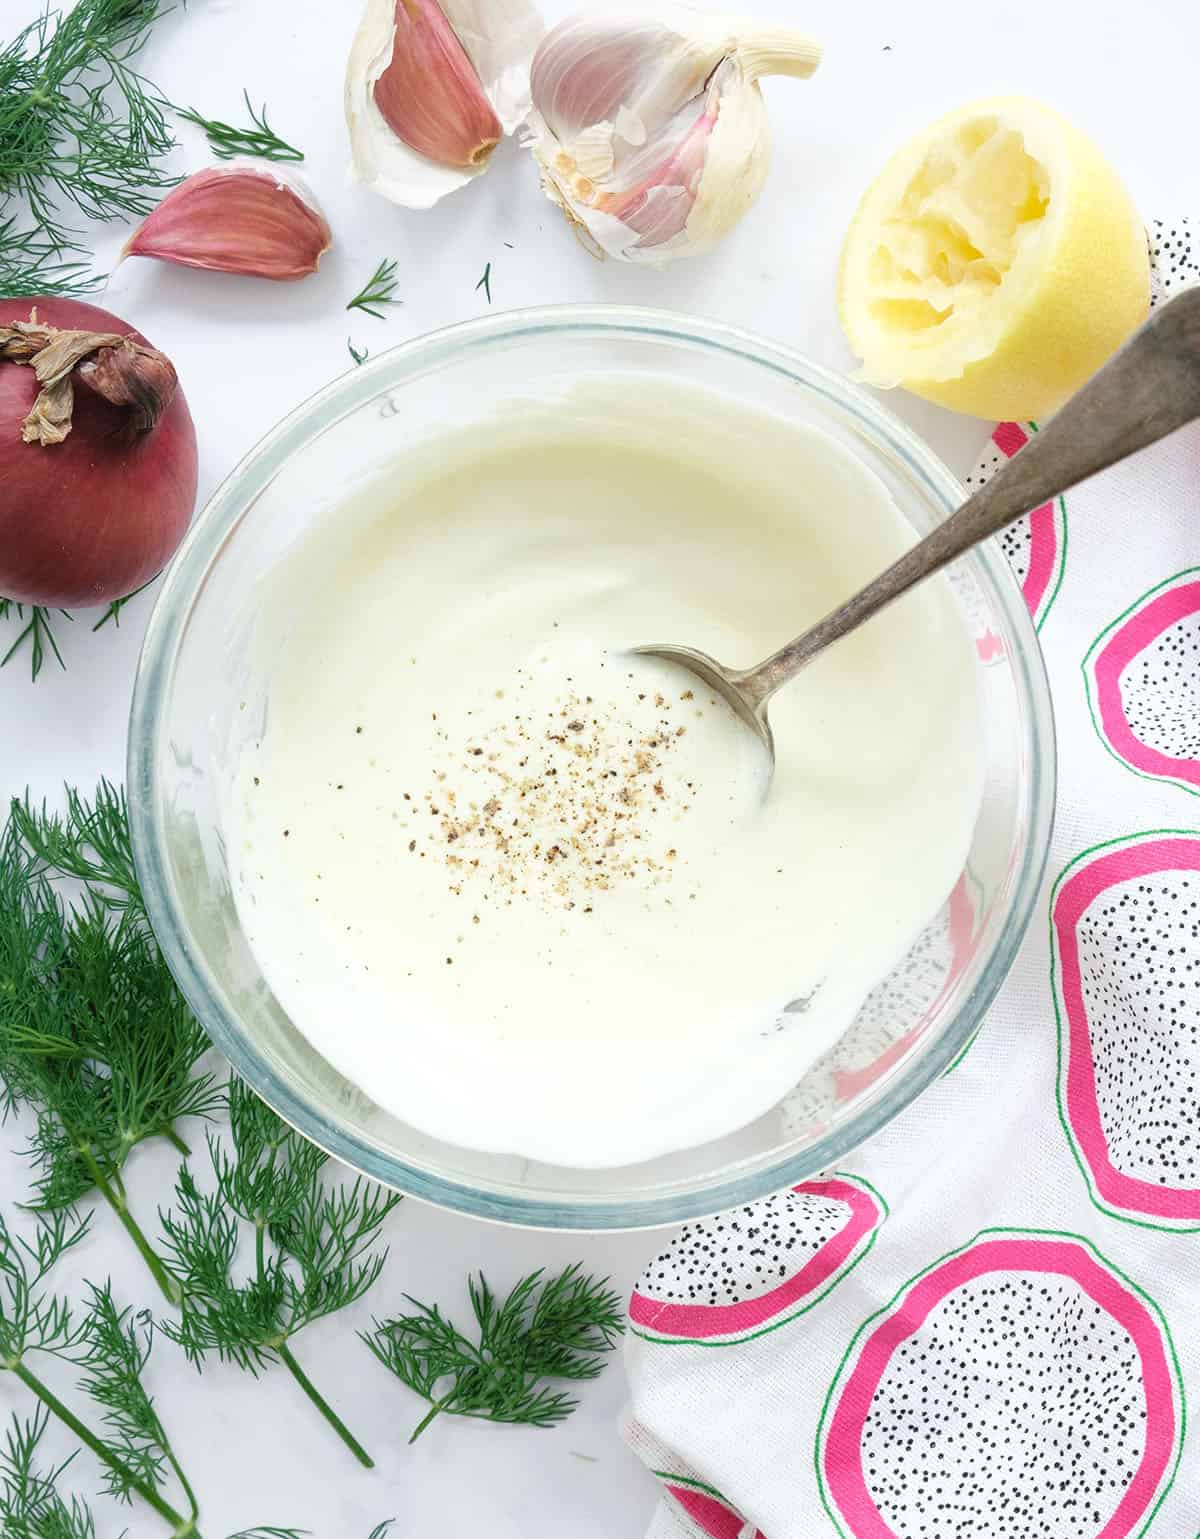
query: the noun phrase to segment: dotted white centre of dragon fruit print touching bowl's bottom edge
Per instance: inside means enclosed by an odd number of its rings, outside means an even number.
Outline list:
[[[777,1288],[849,1220],[845,1202],[780,1191],[718,1219],[686,1224],[655,1256],[638,1291],[662,1304],[743,1304]]]

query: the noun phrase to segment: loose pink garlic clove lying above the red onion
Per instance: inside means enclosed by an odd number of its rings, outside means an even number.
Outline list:
[[[329,225],[298,177],[231,160],[180,182],[125,243],[125,257],[289,282],[315,272]]]

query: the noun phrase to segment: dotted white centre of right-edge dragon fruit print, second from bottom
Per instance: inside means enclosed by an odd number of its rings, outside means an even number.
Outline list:
[[[1112,1163],[1200,1183],[1200,873],[1102,893],[1077,928],[1095,1094]]]

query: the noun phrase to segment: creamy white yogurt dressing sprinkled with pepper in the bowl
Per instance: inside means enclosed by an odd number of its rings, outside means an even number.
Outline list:
[[[966,629],[929,583],[806,671],[765,799],[728,709],[626,648],[754,662],[911,540],[832,439],[658,383],[395,465],[263,600],[231,846],[295,1025],[423,1131],[555,1163],[766,1111],[962,870]]]

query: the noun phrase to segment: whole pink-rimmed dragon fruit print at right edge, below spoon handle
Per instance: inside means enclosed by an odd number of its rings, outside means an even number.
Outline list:
[[[1114,620],[1083,676],[1105,746],[1137,774],[1200,794],[1200,566]]]

